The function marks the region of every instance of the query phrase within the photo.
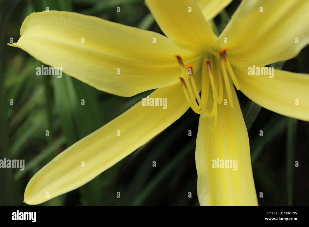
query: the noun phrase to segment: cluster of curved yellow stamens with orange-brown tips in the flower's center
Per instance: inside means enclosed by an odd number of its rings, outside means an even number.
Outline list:
[[[184,69],[184,63],[179,55],[175,55],[177,61],[180,65],[183,77],[179,77],[184,95],[191,107],[191,109],[197,114],[205,114],[209,118],[213,118],[208,126],[211,130],[217,125],[218,111],[217,104],[222,104],[223,101],[223,81],[222,75],[226,87],[227,97],[229,99],[231,107],[234,107],[234,101],[232,96],[231,84],[228,74],[230,75],[237,90],[240,89],[239,83],[233,72],[231,63],[226,54],[226,48],[219,52],[219,60],[216,56],[211,56],[210,58],[214,60],[216,65],[216,70],[213,70],[210,59],[206,59],[204,56],[202,62],[202,82],[201,82],[201,95],[197,88],[197,84],[194,79],[193,67],[192,65],[187,65],[187,72]],[[208,76],[206,75],[206,71]],[[215,73],[215,75],[214,75]],[[215,77],[214,77],[215,76]],[[210,87],[212,89],[212,97],[209,96]]]

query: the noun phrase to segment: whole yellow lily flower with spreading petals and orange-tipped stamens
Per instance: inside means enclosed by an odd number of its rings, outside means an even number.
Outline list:
[[[89,182],[191,106],[200,114],[195,155],[200,204],[258,204],[248,132],[233,84],[269,110],[309,120],[307,75],[282,70],[274,70],[273,78],[248,75],[248,67],[293,58],[309,43],[309,1],[243,0],[219,37],[206,19],[229,1],[217,7],[205,2],[146,0],[167,37],[70,12],[33,13],[24,20],[20,39],[11,45],[44,64],[61,66],[115,95],[158,88],[150,97],[168,100],[166,109],[143,107],[140,101],[60,153],[29,181],[24,202],[40,204]],[[238,160],[237,170],[213,168],[217,158]]]

